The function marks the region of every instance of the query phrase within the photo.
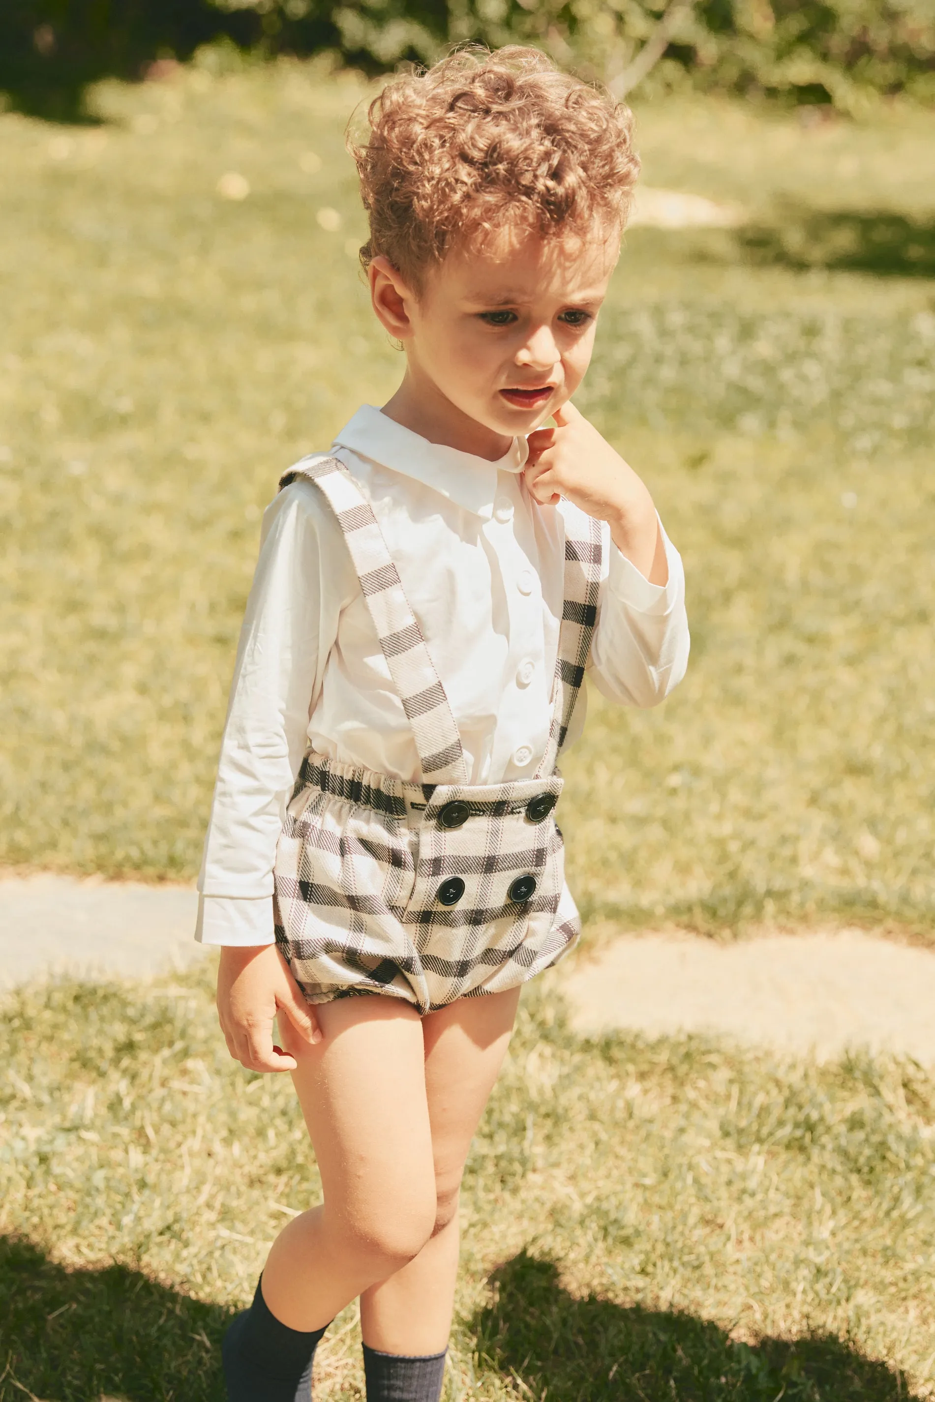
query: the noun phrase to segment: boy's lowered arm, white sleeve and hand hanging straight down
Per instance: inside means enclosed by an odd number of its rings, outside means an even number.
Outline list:
[[[273,864],[308,715],[356,575],[331,510],[310,482],[268,509],[237,649],[199,876],[196,938],[220,945],[217,1011],[233,1057],[287,1071],[273,1047],[279,1012],[314,1042],[314,1015],[276,949]],[[286,1040],[282,1023],[280,1029]]]

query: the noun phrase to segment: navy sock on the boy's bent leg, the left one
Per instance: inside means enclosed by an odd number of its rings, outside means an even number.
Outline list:
[[[221,1345],[230,1402],[310,1402],[311,1364],[324,1332],[280,1323],[264,1300],[261,1276],[252,1305],[237,1315]]]

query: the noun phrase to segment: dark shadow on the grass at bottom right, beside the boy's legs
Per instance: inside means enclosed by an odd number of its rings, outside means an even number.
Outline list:
[[[524,1252],[492,1277],[474,1326],[482,1364],[550,1402],[911,1402],[900,1375],[830,1336],[756,1347],[670,1311],[575,1300]]]

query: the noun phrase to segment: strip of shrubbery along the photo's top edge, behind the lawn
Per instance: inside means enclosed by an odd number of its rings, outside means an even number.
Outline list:
[[[935,98],[935,0],[687,0],[655,87],[692,83],[854,111],[876,94]],[[535,43],[627,87],[664,0],[6,0],[0,88],[71,115],[84,84],[135,76],[226,38],[262,53],[332,49],[367,72],[453,43]]]

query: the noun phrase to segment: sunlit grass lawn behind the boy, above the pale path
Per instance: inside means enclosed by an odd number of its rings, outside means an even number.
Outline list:
[[[400,373],[363,94],[205,63],[102,86],[98,125],[0,116],[0,862],[196,869],[261,509]],[[638,116],[649,184],[749,223],[628,236],[582,395],[684,552],[694,651],[660,712],[597,698],[575,887],[594,925],[928,931],[935,119]]]

